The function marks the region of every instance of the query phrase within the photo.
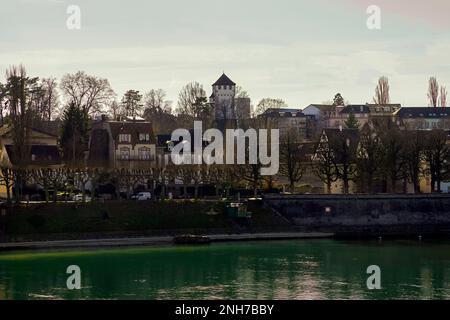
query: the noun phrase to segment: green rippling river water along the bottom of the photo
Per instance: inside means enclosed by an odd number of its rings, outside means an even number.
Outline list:
[[[81,269],[68,290],[66,269]],[[381,270],[368,290],[367,267]],[[449,299],[449,241],[290,240],[0,254],[0,299]]]

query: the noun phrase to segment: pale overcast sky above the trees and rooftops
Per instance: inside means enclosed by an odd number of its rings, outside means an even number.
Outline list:
[[[77,5],[81,28],[69,30]],[[381,13],[370,30],[369,5]],[[164,89],[225,72],[254,105],[371,102],[387,76],[391,102],[427,106],[427,81],[450,91],[448,0],[0,0],[0,82],[11,65],[56,77],[83,70],[128,89]]]

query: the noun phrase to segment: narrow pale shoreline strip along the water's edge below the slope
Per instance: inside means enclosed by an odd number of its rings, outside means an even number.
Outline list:
[[[332,233],[246,233],[246,234],[216,234],[208,238],[211,242],[231,241],[261,241],[261,240],[291,240],[291,239],[324,239],[332,238]],[[54,249],[81,249],[105,247],[137,247],[137,246],[167,246],[174,244],[173,236],[142,237],[142,238],[113,238],[88,240],[61,240],[61,241],[32,241],[0,243],[1,251],[18,250],[54,250]]]

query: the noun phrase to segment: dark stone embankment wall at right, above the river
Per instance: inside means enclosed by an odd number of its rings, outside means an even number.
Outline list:
[[[449,195],[266,196],[264,204],[305,230],[450,234]]]

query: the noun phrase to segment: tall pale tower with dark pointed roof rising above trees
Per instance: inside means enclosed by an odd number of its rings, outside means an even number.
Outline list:
[[[209,102],[214,105],[216,120],[235,120],[236,83],[223,73],[212,85]]]

